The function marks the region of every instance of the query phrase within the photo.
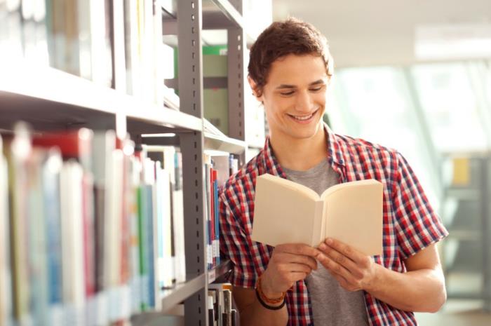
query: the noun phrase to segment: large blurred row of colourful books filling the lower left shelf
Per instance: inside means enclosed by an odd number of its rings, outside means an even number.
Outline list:
[[[159,285],[185,279],[179,151],[153,161],[86,128],[20,124],[2,138],[0,325],[100,326],[158,309]]]

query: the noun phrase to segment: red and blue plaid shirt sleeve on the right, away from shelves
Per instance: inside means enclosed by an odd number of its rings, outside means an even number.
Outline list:
[[[448,231],[433,211],[408,161],[400,153],[396,153],[396,162],[392,205],[396,214],[399,253],[403,259],[407,259],[448,236]]]

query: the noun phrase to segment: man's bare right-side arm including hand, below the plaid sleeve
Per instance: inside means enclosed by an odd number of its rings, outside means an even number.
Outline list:
[[[406,273],[375,264],[349,245],[329,239],[318,260],[344,289],[365,290],[404,311],[436,312],[445,303],[445,280],[434,244],[405,260]]]

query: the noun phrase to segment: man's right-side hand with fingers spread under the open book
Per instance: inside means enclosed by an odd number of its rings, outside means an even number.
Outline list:
[[[368,290],[375,280],[377,264],[372,257],[365,256],[339,240],[327,238],[318,246],[321,254],[317,259],[339,282],[344,290]]]

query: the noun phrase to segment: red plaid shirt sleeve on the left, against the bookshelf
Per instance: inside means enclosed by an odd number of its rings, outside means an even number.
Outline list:
[[[228,196],[230,198],[230,196]],[[250,240],[243,228],[240,205],[227,198],[227,192],[220,196],[220,252],[232,264],[229,282],[237,287],[255,287],[255,272]]]

